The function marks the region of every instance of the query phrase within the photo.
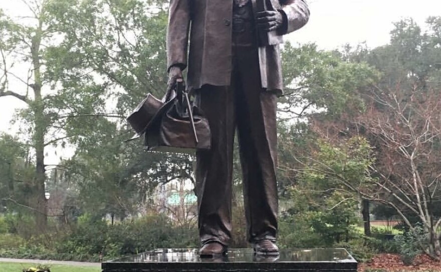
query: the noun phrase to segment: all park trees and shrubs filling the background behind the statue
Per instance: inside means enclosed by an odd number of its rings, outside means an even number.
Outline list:
[[[194,220],[173,221],[150,199],[163,184],[194,185],[194,158],[124,143],[125,116],[165,90],[167,2],[24,3],[26,22],[0,9],[0,99],[25,105],[19,131],[0,137],[0,256],[99,260],[197,246]],[[441,18],[425,29],[396,22],[374,49],[284,45],[280,246],[441,258]],[[48,165],[53,148],[75,154]],[[247,246],[240,173],[236,158],[237,247]],[[55,214],[48,192],[62,196]],[[371,228],[370,216],[400,220],[400,234],[388,239],[392,229]]]

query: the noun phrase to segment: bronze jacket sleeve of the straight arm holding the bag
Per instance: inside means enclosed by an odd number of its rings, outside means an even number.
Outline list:
[[[171,66],[187,67],[190,1],[170,0],[167,27],[167,71]]]

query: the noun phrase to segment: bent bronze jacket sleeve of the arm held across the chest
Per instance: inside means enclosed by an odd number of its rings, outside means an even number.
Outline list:
[[[287,22],[282,34],[302,28],[309,20],[309,8],[305,0],[280,0],[282,14]]]

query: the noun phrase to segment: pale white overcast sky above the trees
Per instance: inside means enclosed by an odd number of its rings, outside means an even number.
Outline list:
[[[18,0],[0,0],[9,14],[24,15]],[[346,43],[366,42],[370,48],[387,44],[392,22],[411,17],[420,26],[429,16],[441,12],[441,0],[310,0],[311,18],[301,30],[288,35],[294,43],[315,42],[321,49],[335,49]],[[0,97],[0,131],[10,131],[10,120],[23,103]]]

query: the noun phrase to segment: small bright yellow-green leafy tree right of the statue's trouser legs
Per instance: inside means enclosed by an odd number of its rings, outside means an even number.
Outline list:
[[[292,206],[288,213],[303,215],[304,224],[322,237],[326,246],[354,237],[358,222],[360,195],[351,188],[369,186],[372,150],[365,139],[352,138],[333,143],[318,140],[313,154],[298,160],[296,183],[289,192]],[[296,155],[297,156],[297,155]]]

